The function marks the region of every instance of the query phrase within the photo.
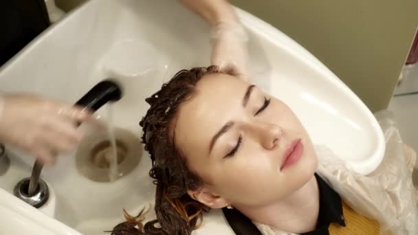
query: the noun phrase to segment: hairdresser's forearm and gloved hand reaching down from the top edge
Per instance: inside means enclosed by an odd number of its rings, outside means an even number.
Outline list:
[[[248,78],[248,36],[234,8],[226,0],[179,0],[212,27],[212,65]]]

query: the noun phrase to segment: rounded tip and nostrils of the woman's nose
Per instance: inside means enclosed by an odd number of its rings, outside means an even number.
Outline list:
[[[278,124],[257,121],[253,122],[254,133],[261,146],[265,149],[273,149],[278,145],[283,137],[283,128]]]

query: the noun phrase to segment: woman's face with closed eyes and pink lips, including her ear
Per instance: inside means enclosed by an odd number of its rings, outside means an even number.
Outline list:
[[[197,199],[212,208],[284,199],[318,165],[311,139],[285,103],[226,74],[201,78],[174,130],[188,168],[204,182]]]

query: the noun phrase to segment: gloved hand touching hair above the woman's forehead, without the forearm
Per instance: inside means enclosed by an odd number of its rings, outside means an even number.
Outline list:
[[[212,65],[248,80],[248,35],[241,23],[222,22],[212,28]]]

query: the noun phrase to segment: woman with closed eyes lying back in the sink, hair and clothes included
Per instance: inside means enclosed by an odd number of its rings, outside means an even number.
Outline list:
[[[235,208],[263,234],[340,234],[346,226],[345,214],[353,218],[347,234],[359,230],[357,225],[362,226],[360,231],[377,234],[377,221],[386,226],[393,219],[390,216],[404,219],[404,212],[399,212],[404,209],[376,206],[386,196],[379,191],[384,186],[372,177],[340,170],[344,166],[336,157],[324,157],[331,171],[321,170],[323,166],[319,171],[327,175],[328,183],[358,196],[344,198],[351,208],[366,201],[370,206],[360,210],[381,209],[372,210],[373,216],[366,214],[374,221],[342,203],[338,193],[315,174],[318,150],[292,110],[217,67],[180,71],[146,102],[151,107],[140,125],[153,161],[150,175],[157,185],[157,220],[142,227],[137,223],[140,214],[117,225],[113,234],[190,234],[206,208]],[[358,186],[369,191],[350,190]],[[404,200],[397,193],[391,192],[391,197]],[[385,200],[392,203],[390,197]],[[417,218],[416,210],[411,214]],[[410,230],[408,225],[399,227]]]

